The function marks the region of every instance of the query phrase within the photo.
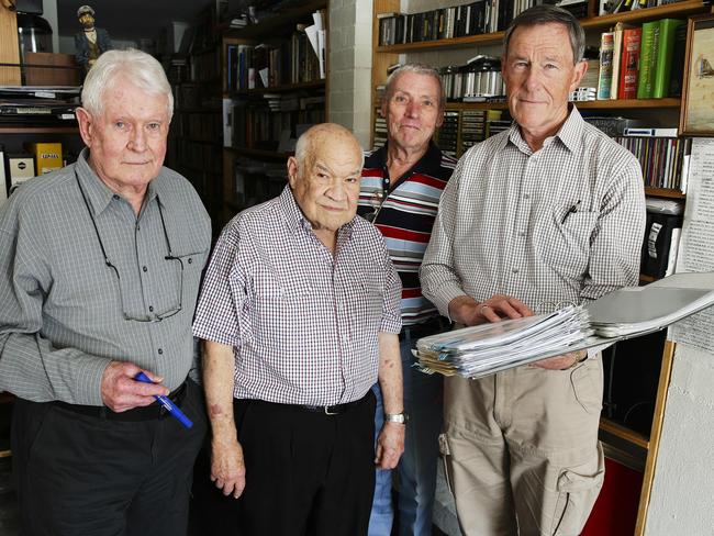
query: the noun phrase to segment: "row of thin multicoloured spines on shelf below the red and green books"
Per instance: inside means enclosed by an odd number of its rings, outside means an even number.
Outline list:
[[[660,129],[661,130],[661,129]],[[670,130],[670,129],[665,129]],[[676,129],[672,129],[676,131]],[[625,136],[614,139],[637,157],[645,186],[687,191],[687,170],[692,148],[691,138]],[[629,134],[629,135],[627,135]]]

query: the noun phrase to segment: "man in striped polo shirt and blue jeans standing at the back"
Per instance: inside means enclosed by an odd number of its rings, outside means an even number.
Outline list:
[[[402,280],[400,346],[404,410],[410,416],[398,469],[399,526],[403,535],[432,534],[443,382],[436,375],[412,368],[411,350],[417,338],[446,325],[422,295],[419,280],[438,201],[456,165],[432,142],[444,118],[445,100],[438,72],[432,67],[408,64],[391,74],[381,109],[388,141],[366,155],[359,193],[358,214],[382,233]],[[381,397],[378,386],[373,390],[378,400],[376,429],[380,429]],[[378,469],[369,534],[388,536],[392,518],[391,472]]]

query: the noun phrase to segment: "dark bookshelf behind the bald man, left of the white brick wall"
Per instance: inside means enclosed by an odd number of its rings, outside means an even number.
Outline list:
[[[236,212],[277,196],[286,183],[286,161],[295,138],[326,120],[327,54],[324,76],[304,29],[327,0],[285,8],[245,27],[223,27],[221,86],[223,142],[221,226]],[[325,31],[325,35],[327,32]],[[327,49],[327,44],[324,46]]]

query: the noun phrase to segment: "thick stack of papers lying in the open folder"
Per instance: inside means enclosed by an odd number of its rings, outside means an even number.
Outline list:
[[[582,347],[593,335],[584,309],[568,306],[550,314],[424,337],[412,351],[424,372],[481,378],[546,356],[566,354],[570,347]]]

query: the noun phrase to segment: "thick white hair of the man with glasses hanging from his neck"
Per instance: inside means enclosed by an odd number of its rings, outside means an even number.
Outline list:
[[[99,56],[85,79],[82,107],[92,115],[101,115],[104,111],[104,91],[120,76],[149,94],[166,96],[170,121],[174,115],[174,93],[164,68],[153,56],[135,48],[107,51]]]

